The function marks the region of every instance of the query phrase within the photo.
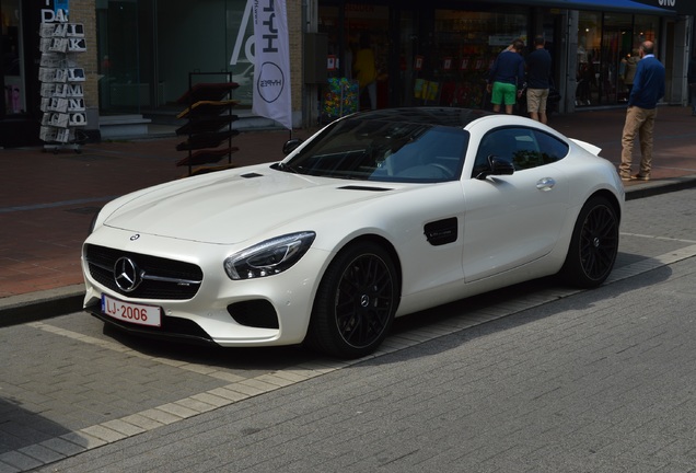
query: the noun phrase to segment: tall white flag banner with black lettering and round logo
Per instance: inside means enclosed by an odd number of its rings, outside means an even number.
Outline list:
[[[290,43],[285,0],[248,0],[254,19],[254,99],[256,115],[292,129]]]

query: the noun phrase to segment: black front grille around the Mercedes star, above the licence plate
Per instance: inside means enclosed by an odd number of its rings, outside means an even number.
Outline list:
[[[124,252],[93,244],[86,245],[85,257],[90,275],[94,280],[129,298],[192,299],[196,296],[202,282],[202,270],[192,263]],[[142,280],[131,291],[126,291],[118,287],[114,277],[114,266],[121,257],[130,258],[142,275]]]

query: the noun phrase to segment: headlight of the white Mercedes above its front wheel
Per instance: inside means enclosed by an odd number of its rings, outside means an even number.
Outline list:
[[[230,279],[272,276],[292,267],[312,245],[316,233],[291,233],[266,240],[224,261]]]

